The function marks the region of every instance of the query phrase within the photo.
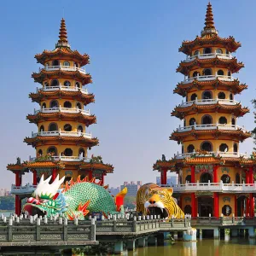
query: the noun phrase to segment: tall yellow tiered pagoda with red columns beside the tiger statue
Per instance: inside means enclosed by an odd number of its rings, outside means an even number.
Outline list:
[[[174,196],[192,217],[254,216],[256,154],[248,157],[239,150],[240,143],[251,137],[237,125],[238,118],[249,112],[235,100],[247,89],[233,76],[244,67],[233,56],[240,46],[233,37],[218,36],[208,3],[201,36],[183,41],[179,48],[187,55],[177,67],[184,79],[173,92],[184,100],[171,114],[183,120],[183,126],[170,139],[181,144],[182,152],[171,160],[163,155],[153,168],[160,172],[162,186],[170,186],[168,171],[177,173]]]

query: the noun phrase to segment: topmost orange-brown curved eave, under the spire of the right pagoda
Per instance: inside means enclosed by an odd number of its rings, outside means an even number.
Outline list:
[[[221,45],[224,48],[228,49],[230,52],[236,51],[239,47],[241,47],[240,42],[236,42],[235,38],[220,38],[218,35],[211,37],[196,37],[193,41],[183,41],[182,46],[178,49],[178,51],[183,52],[185,55],[190,55],[192,50],[195,49],[196,46],[215,46]]]

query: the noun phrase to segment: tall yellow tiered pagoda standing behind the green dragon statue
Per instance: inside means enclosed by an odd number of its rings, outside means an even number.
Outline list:
[[[87,131],[96,123],[96,116],[84,109],[95,102],[93,94],[84,85],[92,82],[85,65],[90,63],[89,55],[81,55],[73,50],[67,41],[65,20],[61,20],[59,40],[54,50],[44,50],[35,55],[44,67],[32,73],[32,79],[40,84],[35,93],[30,93],[32,102],[37,102],[38,110],[28,114],[26,119],[38,126],[37,132],[26,137],[24,142],[36,148],[36,156],[28,161],[9,164],[7,169],[15,173],[15,185],[11,192],[15,195],[15,212],[20,215],[21,199],[30,196],[40,177],[59,174],[65,176],[64,183],[72,178],[96,178],[104,183],[104,176],[113,172],[113,166],[104,164],[102,157],[88,157],[88,149],[99,142]],[[22,186],[22,175],[32,172],[32,184]]]

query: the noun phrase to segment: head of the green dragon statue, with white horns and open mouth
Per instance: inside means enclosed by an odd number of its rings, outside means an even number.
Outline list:
[[[65,197],[59,189],[64,178],[59,179],[58,175],[55,181],[49,184],[51,176],[44,180],[44,175],[42,175],[37,189],[33,192],[32,197],[27,199],[23,212],[29,215],[38,214],[38,216],[65,212],[67,210]]]

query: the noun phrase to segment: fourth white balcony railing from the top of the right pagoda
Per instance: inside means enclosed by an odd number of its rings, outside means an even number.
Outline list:
[[[248,132],[244,127],[241,127],[239,125],[222,125],[222,124],[207,124],[207,125],[189,125],[189,126],[183,126],[178,127],[177,132],[184,132],[184,131],[191,131],[194,130],[229,130],[229,131],[236,131],[241,130],[243,132]]]

